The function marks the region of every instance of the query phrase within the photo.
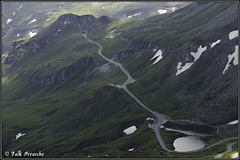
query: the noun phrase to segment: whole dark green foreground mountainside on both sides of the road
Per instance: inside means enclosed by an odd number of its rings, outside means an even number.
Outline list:
[[[172,119],[225,126],[237,119],[238,40],[229,38],[238,27],[237,13],[237,3],[199,2],[140,20],[65,14],[36,36],[15,41],[3,59],[3,151],[212,158],[224,144],[196,153],[165,152],[146,121],[153,115],[124,90],[109,86],[124,83],[125,74],[81,33],[126,67],[136,80],[128,89],[150,109]],[[229,57],[234,58],[224,71]],[[126,135],[130,126],[137,130]],[[17,133],[25,135],[15,140]],[[183,136],[161,134],[173,150],[174,139]],[[210,145],[221,137],[203,139]]]

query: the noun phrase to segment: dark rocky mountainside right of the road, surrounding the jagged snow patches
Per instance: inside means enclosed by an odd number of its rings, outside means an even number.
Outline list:
[[[191,9],[195,8],[196,5],[200,5],[200,7],[198,7],[195,12],[192,12]],[[189,12],[191,12],[191,16],[189,14],[182,16],[182,14]],[[212,15],[213,13],[215,13],[215,16]],[[233,3],[194,3],[182,10],[174,12],[169,15],[169,17],[154,17],[144,22],[143,25],[138,24],[138,26],[141,27],[133,27],[133,29],[126,31],[125,34],[131,37],[130,39],[134,39],[133,43],[142,43],[144,44],[142,46],[147,46],[146,52],[149,53],[154,49],[161,49],[164,57],[160,62],[149,68],[144,68],[143,65],[133,67],[132,64],[137,63],[138,60],[129,58],[125,66],[128,68],[129,65],[131,73],[149,73],[146,75],[146,77],[148,77],[147,79],[143,77],[142,82],[139,80],[132,84],[132,90],[135,90],[135,93],[139,96],[141,94],[143,97],[145,97],[146,94],[148,94],[149,97],[155,96],[152,99],[158,100],[152,105],[156,106],[154,108],[159,112],[163,112],[166,107],[163,105],[161,109],[157,107],[157,105],[166,103],[165,105],[178,105],[178,108],[176,108],[178,110],[175,110],[178,115],[183,111],[183,107],[194,106],[191,107],[191,109],[195,108],[191,110],[192,112],[194,111],[191,114],[196,118],[196,113],[198,113],[199,120],[205,119],[206,121],[209,120],[213,122],[226,121],[226,119],[220,118],[227,116],[228,114],[226,114],[226,112],[229,112],[229,118],[236,119],[238,65],[231,66],[233,69],[232,72],[229,71],[223,74],[223,70],[228,61],[228,55],[234,53],[235,46],[238,44],[237,38],[229,39],[229,33],[237,30],[237,13],[237,6]],[[198,16],[196,17],[196,15]],[[212,18],[204,19],[206,15],[212,15]],[[183,18],[179,19],[178,16]],[[220,24],[220,16],[221,19],[227,20],[224,22],[221,21]],[[191,20],[193,17],[194,22]],[[180,20],[181,23],[179,23]],[[201,25],[196,24],[195,21],[201,22]],[[153,26],[153,24],[155,26]],[[166,27],[160,27],[158,30],[155,30],[156,24],[159,26],[166,24]],[[221,42],[211,48],[211,44],[218,39],[220,39]],[[191,52],[196,52],[200,45],[207,47],[206,51],[201,55],[201,58],[194,62],[189,70],[180,75],[176,75],[179,62],[182,63],[182,66],[186,63],[193,62]],[[122,55],[123,54],[124,52]],[[137,53],[135,54],[133,52],[131,56],[134,57],[135,55],[137,55]],[[142,72],[140,71],[141,68],[143,70]],[[154,74],[152,74],[152,72],[154,72]],[[139,78],[142,77],[140,73],[138,73]],[[137,79],[138,77],[134,78]],[[167,92],[164,93],[165,91]],[[228,95],[226,95],[226,93]],[[174,100],[171,102],[173,102],[173,104],[168,104],[169,99],[166,99],[168,97],[167,95],[172,95]],[[209,98],[209,96],[211,98]],[[196,99],[194,97],[196,97]],[[161,99],[165,100],[162,102],[160,101]],[[183,103],[180,103],[178,100]],[[174,103],[174,101],[177,102]],[[169,109],[169,107],[167,108]],[[200,110],[198,108],[205,108],[208,110],[208,113],[206,114],[206,110]],[[216,109],[222,112],[214,115]],[[169,111],[168,115],[170,114],[174,114],[174,111]],[[187,113],[182,114],[182,116],[184,116]],[[209,114],[211,114],[211,116],[209,116]],[[188,116],[190,116],[190,114],[188,114]]]

